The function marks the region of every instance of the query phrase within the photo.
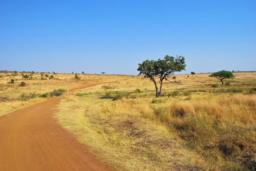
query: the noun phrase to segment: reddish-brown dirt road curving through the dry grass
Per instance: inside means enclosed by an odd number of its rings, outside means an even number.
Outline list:
[[[113,171],[52,118],[60,100],[49,99],[0,117],[0,171]]]

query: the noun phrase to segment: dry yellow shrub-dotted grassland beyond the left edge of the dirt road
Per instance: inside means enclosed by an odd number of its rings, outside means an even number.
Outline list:
[[[28,78],[24,78],[28,75]],[[48,75],[48,76],[47,76]],[[52,75],[52,76],[51,76]],[[60,73],[38,73],[38,72],[0,72],[0,116],[23,107],[44,101],[50,98],[49,92],[53,90],[80,87],[86,84],[93,84],[107,81],[132,80],[140,77],[132,75],[88,75]],[[26,76],[25,76],[26,77]],[[14,84],[11,84],[11,80]],[[22,84],[22,82],[24,82]],[[48,93],[46,95],[45,93]],[[46,95],[44,98],[42,95]]]

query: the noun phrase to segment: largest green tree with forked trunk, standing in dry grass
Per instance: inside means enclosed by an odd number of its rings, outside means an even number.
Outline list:
[[[156,97],[162,96],[163,80],[168,80],[168,78],[174,74],[174,72],[180,72],[185,70],[185,58],[183,56],[169,56],[166,55],[164,59],[146,60],[142,64],[139,64],[137,69],[140,73],[139,75],[144,75],[144,78],[150,78],[154,82],[156,88]],[[155,77],[160,77],[160,90],[157,86],[157,81]],[[170,81],[171,82],[171,81]]]

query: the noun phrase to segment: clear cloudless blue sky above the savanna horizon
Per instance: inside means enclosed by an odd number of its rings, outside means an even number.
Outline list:
[[[0,70],[137,75],[165,55],[256,70],[256,0],[0,0]]]

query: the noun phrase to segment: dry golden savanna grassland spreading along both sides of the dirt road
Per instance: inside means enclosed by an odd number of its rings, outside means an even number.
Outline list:
[[[143,76],[1,72],[0,115],[63,94],[54,117],[113,168],[253,171],[256,72],[224,85],[209,75],[175,75],[155,98]],[[104,84],[65,94],[94,83]]]

